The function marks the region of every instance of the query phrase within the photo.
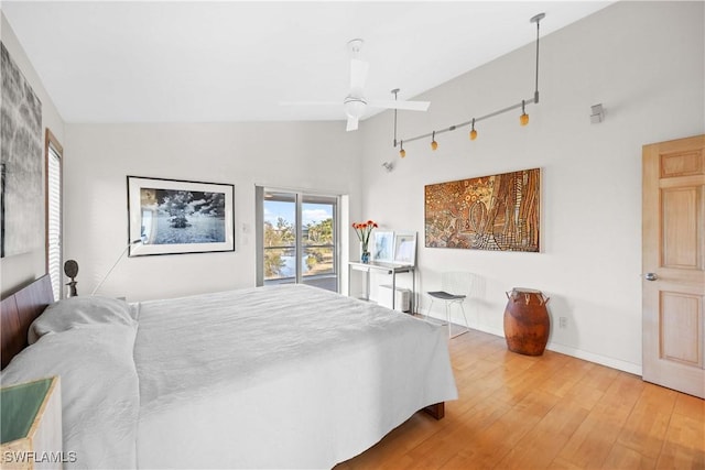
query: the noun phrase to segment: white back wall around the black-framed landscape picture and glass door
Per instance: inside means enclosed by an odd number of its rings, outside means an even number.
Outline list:
[[[128,240],[127,176],[235,185],[236,251],[127,258],[100,294],[129,300],[253,286],[254,185],[350,195],[359,141],[344,122],[67,124],[65,254],[88,294]]]

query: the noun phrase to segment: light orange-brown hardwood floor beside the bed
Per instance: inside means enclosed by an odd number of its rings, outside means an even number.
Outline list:
[[[449,348],[445,418],[416,413],[336,469],[705,469],[703,400],[475,330]]]

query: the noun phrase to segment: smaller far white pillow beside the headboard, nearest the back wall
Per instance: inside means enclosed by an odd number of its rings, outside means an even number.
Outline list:
[[[28,342],[33,345],[50,332],[66,331],[86,325],[135,326],[130,305],[112,297],[69,297],[50,304],[30,325]]]

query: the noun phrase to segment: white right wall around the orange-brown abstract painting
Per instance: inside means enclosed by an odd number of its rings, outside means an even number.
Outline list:
[[[502,335],[505,292],[539,288],[551,297],[550,349],[640,373],[641,146],[705,131],[703,6],[620,2],[543,37],[541,102],[527,128],[520,112],[503,114],[477,124],[474,142],[464,128],[438,136],[436,152],[430,139],[404,145],[401,160],[391,114],[365,122],[362,214],[419,232],[420,291],[438,287],[443,271],[475,273],[470,325]],[[531,98],[534,47],[419,97],[430,111],[400,113],[400,136]],[[606,119],[590,124],[599,102]],[[384,161],[397,168],[386,173]],[[424,248],[424,185],[532,167],[542,168],[541,253]]]

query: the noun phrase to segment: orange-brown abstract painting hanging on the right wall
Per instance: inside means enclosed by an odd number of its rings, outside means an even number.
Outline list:
[[[540,168],[425,186],[425,245],[540,251]]]

